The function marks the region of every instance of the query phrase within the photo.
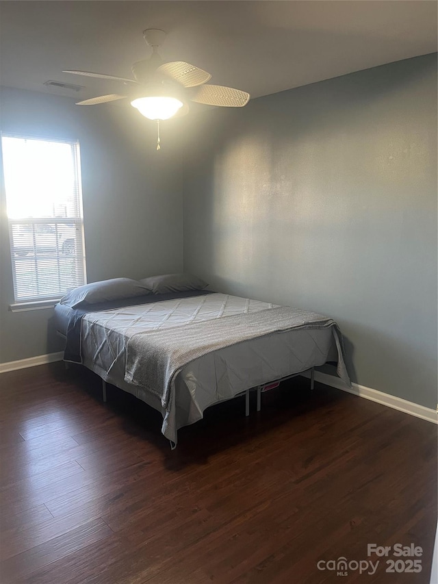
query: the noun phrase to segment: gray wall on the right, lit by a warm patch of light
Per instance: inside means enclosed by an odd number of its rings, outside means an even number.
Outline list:
[[[188,120],[184,264],[335,318],[361,385],[437,404],[437,59]]]

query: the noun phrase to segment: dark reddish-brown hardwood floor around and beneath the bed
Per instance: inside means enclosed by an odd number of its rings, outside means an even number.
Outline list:
[[[157,412],[111,386],[102,403],[83,368],[0,383],[2,584],[429,582],[430,422],[295,378],[250,418],[242,398],[209,409],[171,451]],[[421,546],[422,572],[385,572],[400,558],[368,544]],[[348,575],[318,569],[339,557]]]

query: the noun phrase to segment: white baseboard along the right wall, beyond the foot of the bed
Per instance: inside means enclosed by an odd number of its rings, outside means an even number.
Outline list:
[[[308,372],[302,373],[302,375],[304,377],[310,377]],[[324,385],[329,385],[331,388],[336,388],[337,390],[342,390],[343,392],[348,392],[355,396],[369,399],[381,403],[382,405],[387,405],[393,409],[398,409],[398,411],[403,411],[405,414],[411,414],[411,416],[415,416],[416,418],[422,418],[422,420],[427,420],[434,424],[438,423],[437,412],[430,407],[424,407],[424,405],[413,403],[412,401],[378,392],[377,390],[366,388],[365,385],[359,385],[358,383],[352,383],[352,388],[349,388],[342,379],[339,379],[339,377],[334,377],[333,375],[328,375],[320,371],[315,371],[315,381],[324,383]]]

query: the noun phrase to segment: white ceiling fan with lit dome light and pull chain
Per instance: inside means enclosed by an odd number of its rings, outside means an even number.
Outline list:
[[[152,47],[152,55],[149,59],[133,64],[134,79],[90,71],[63,71],[63,73],[73,73],[73,75],[122,81],[129,87],[128,95],[116,93],[100,95],[79,101],[77,105],[98,105],[118,99],[129,99],[131,105],[136,107],[143,116],[156,120],[159,128],[160,120],[167,120],[177,114],[179,116],[187,114],[189,111],[187,101],[220,107],[243,107],[248,103],[250,94],[246,91],[207,84],[211,75],[203,69],[184,61],[164,62],[158,53],[158,47],[166,38],[164,31],[146,29],[143,31],[143,36],[146,43]],[[159,148],[158,129],[157,150]]]

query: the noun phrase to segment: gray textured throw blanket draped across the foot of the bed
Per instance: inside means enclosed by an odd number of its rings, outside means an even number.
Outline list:
[[[249,339],[292,329],[330,328],[337,346],[337,373],[350,385],[344,364],[342,336],[331,318],[315,312],[273,307],[260,312],[224,316],[203,322],[185,322],[170,329],[135,333],[127,344],[125,381],[146,388],[169,411],[172,381],[190,361]]]

